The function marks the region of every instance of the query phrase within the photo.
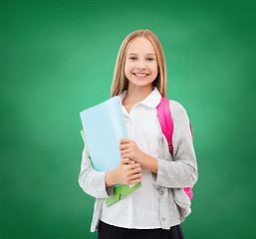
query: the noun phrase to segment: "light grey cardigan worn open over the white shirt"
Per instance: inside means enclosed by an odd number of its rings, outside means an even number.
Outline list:
[[[183,187],[191,187],[197,181],[197,162],[184,108],[170,101],[173,121],[173,158],[163,133],[159,136],[157,174],[152,172],[154,183],[159,188],[159,210],[162,229],[180,224],[191,212],[190,200]],[[157,119],[158,121],[158,119]],[[159,121],[158,126],[160,127]],[[161,130],[160,130],[161,131]],[[105,171],[94,169],[86,148],[83,150],[79,184],[89,195],[96,198],[91,232],[99,228],[104,198],[111,197],[114,186],[106,189]]]

